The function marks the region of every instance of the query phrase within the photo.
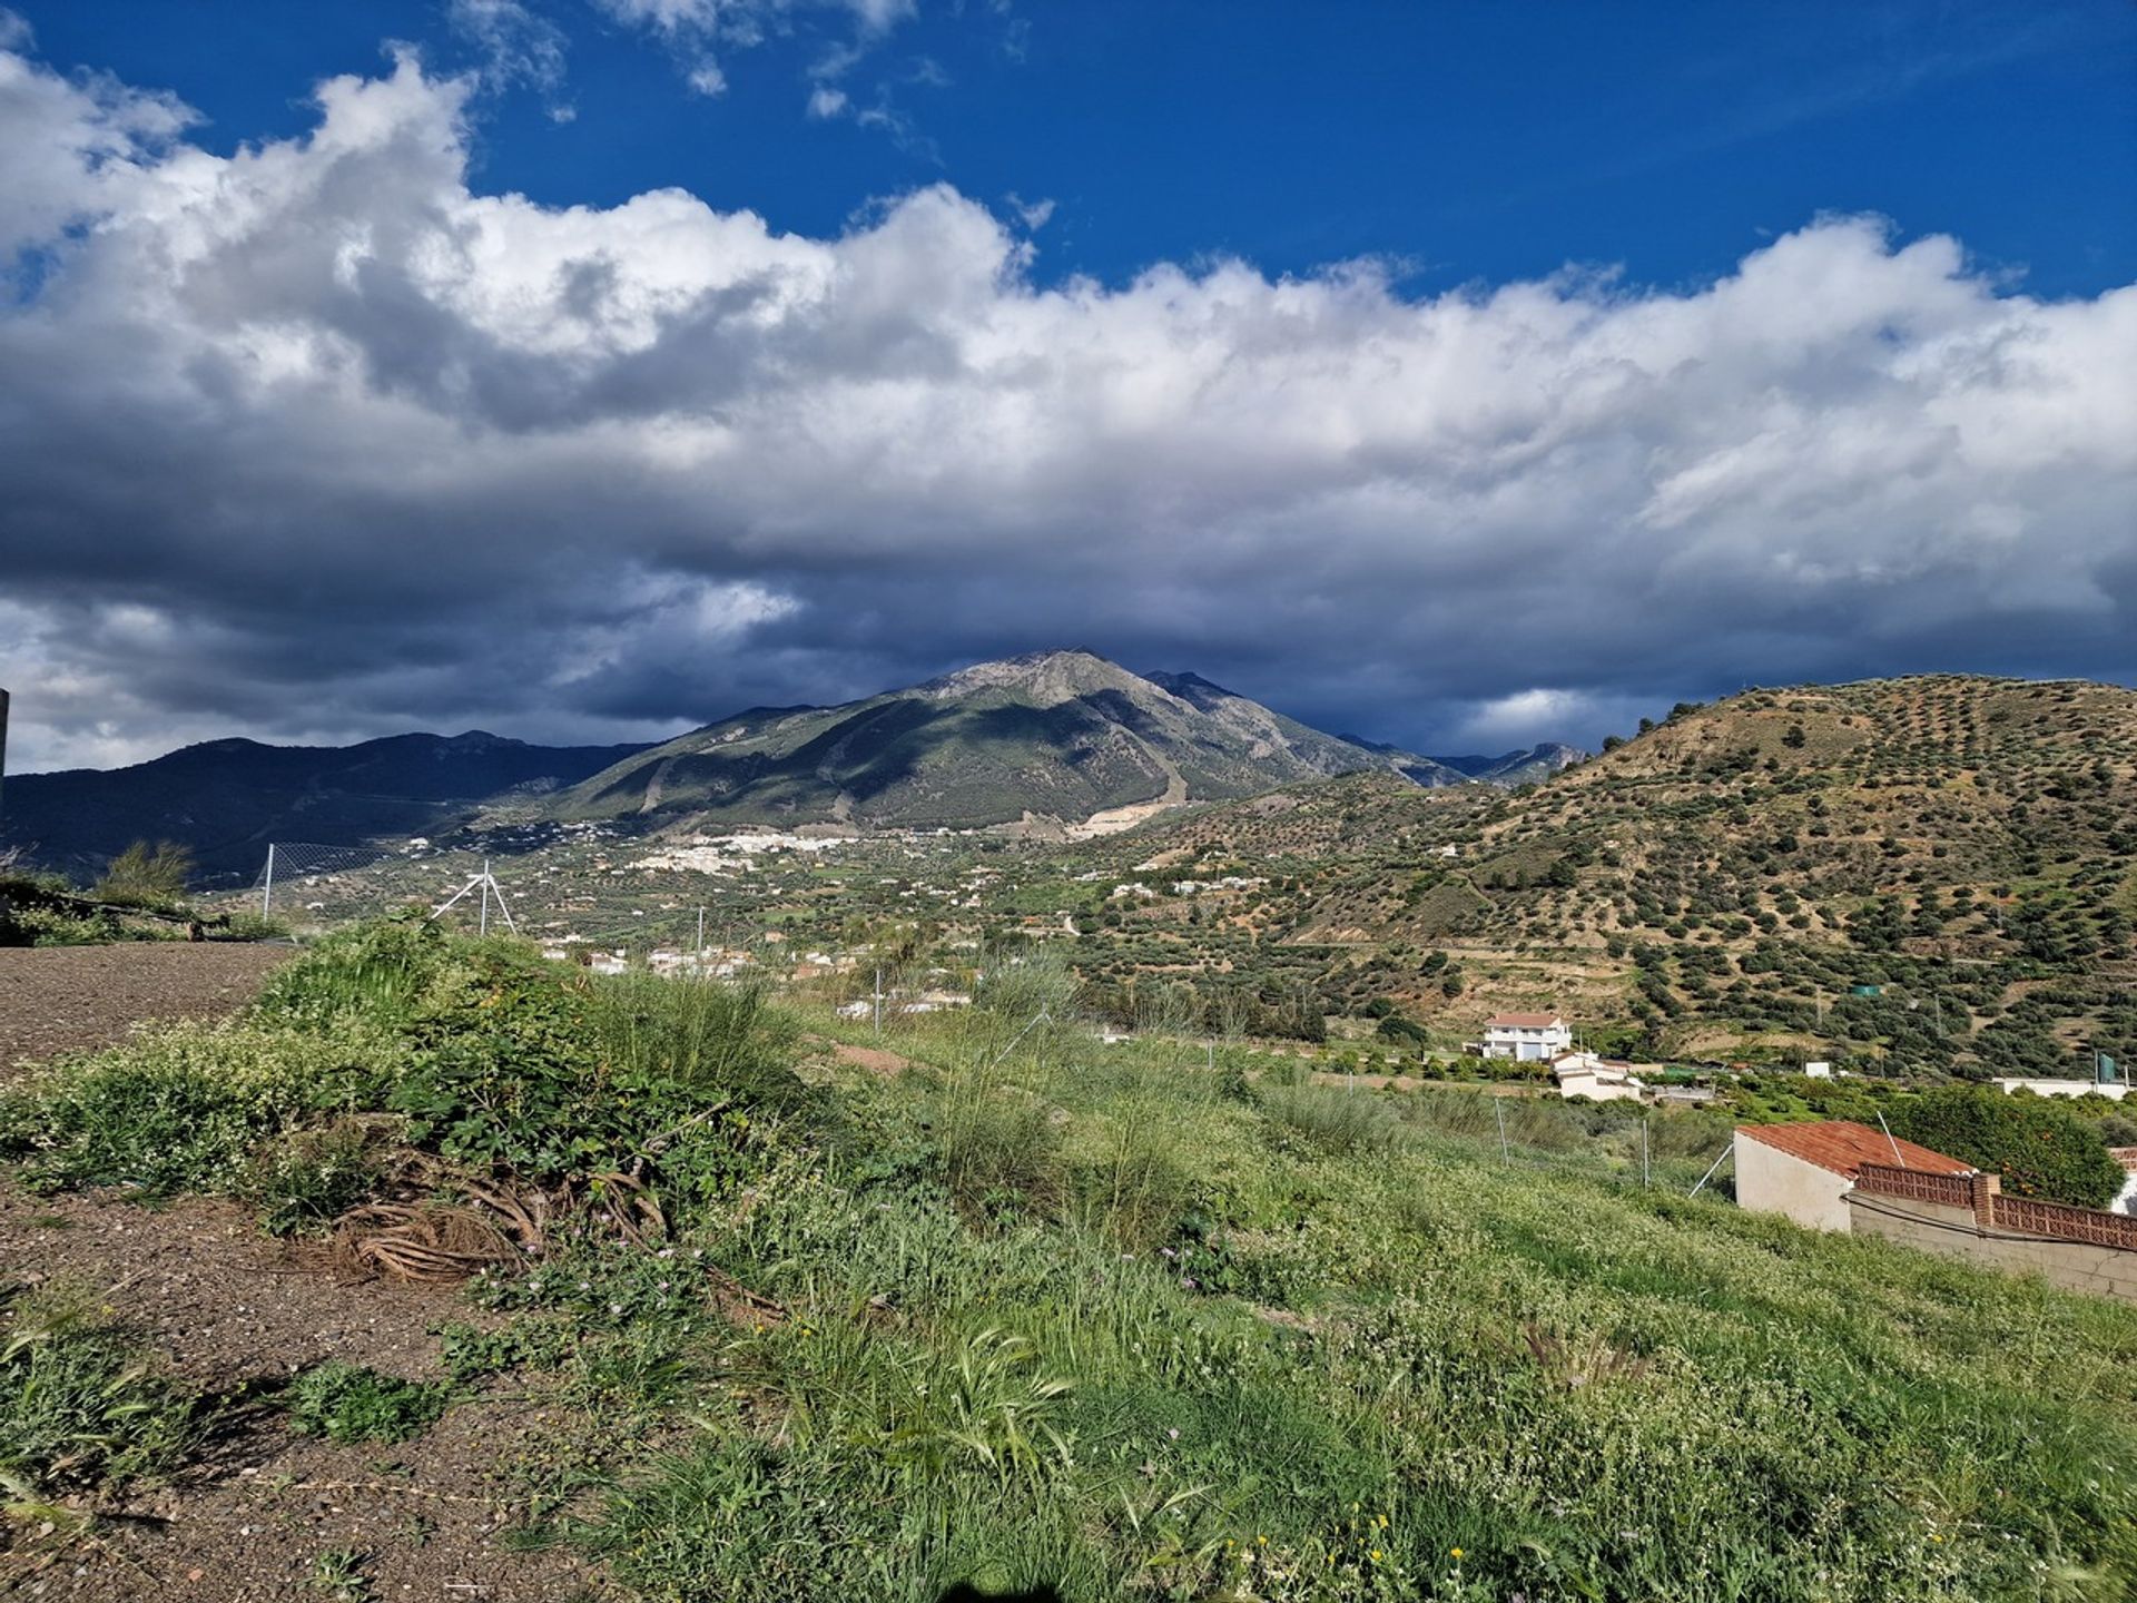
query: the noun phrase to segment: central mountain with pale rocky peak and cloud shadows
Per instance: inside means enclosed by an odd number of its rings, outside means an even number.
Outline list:
[[[1370,752],[1195,673],[1130,673],[1081,650],[979,663],[838,707],[750,712],[637,752],[549,804],[560,819],[983,827],[1083,825],[1124,808],[1252,795],[1381,767]],[[1413,772],[1415,769],[1415,772]]]

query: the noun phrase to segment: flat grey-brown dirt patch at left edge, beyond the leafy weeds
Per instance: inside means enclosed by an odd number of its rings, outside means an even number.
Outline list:
[[[295,955],[222,940],[0,947],[0,1079],[56,1052],[124,1041],[143,1020],[233,1013]]]

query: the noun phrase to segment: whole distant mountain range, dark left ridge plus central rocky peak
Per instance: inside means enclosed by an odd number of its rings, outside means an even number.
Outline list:
[[[979,663],[838,707],[756,707],[658,746],[528,746],[481,731],[346,748],[218,740],[111,772],[9,780],[0,842],[90,872],[139,838],[241,874],[269,840],[444,834],[502,806],[648,827],[833,823],[1073,831],[1180,802],[1387,772],[1522,784],[1569,746],[1434,759],[1327,735],[1197,673],[1130,673],[1079,650]]]

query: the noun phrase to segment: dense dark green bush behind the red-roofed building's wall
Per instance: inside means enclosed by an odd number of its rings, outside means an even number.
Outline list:
[[[1998,1171],[2011,1197],[2105,1208],[2122,1190],[2122,1165],[2099,1129],[2043,1096],[1951,1086],[1900,1103],[1891,1126],[1908,1141]]]

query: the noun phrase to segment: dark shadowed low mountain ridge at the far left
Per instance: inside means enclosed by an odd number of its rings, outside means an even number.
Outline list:
[[[0,844],[77,876],[135,840],[177,840],[201,874],[241,876],[269,840],[357,846],[449,829],[477,808],[577,784],[639,746],[528,746],[472,729],[357,746],[209,740],[115,769],[17,774]]]

